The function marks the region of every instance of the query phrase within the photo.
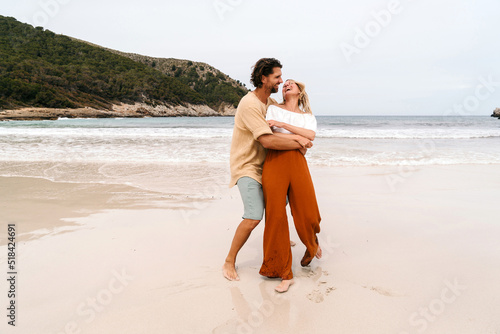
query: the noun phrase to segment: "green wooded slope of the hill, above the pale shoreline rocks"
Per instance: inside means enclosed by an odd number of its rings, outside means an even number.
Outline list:
[[[217,109],[235,105],[247,92],[208,65],[217,74],[195,77],[199,65],[189,61],[180,60],[186,67],[170,73],[126,55],[0,16],[0,108],[110,109],[144,102]]]

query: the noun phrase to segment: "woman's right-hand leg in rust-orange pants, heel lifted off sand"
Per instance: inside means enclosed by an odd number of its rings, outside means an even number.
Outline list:
[[[295,152],[288,198],[297,234],[306,246],[300,263],[307,266],[320,251],[316,234],[320,231],[321,216],[307,161],[302,153]]]

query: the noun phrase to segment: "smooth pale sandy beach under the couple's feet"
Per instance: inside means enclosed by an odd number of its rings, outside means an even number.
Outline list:
[[[258,274],[264,223],[238,257],[241,280],[222,277],[242,211],[236,188],[169,205],[126,185],[0,178],[1,266],[15,224],[18,271],[16,327],[4,316],[1,332],[500,331],[498,165],[312,176],[324,256],[301,268],[292,232],[296,284],[281,295]],[[0,289],[5,306],[5,279]]]

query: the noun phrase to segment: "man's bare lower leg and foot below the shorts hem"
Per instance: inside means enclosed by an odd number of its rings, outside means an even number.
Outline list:
[[[226,262],[222,266],[222,273],[224,277],[230,281],[239,281],[238,274],[236,273],[236,256],[240,251],[241,247],[248,240],[248,237],[252,233],[253,229],[260,223],[260,220],[243,219],[234,233],[233,242],[231,243],[231,248],[226,257]]]

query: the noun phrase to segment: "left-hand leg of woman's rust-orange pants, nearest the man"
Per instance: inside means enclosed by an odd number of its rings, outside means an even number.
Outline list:
[[[289,151],[268,150],[262,172],[262,189],[266,202],[264,260],[260,274],[290,280],[292,251],[286,214],[286,194],[290,184],[287,172]]]

